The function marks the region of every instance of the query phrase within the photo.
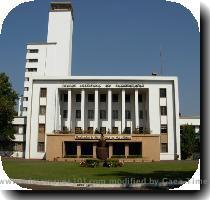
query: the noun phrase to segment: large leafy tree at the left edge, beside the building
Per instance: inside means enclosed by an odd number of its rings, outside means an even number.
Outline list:
[[[0,146],[1,149],[14,139],[15,130],[12,121],[16,115],[15,106],[18,99],[13,90],[9,77],[0,73]]]

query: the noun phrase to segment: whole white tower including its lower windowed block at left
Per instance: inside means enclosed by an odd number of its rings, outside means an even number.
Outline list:
[[[21,110],[27,116],[30,82],[37,76],[71,76],[73,8],[70,2],[52,2],[45,43],[28,43]]]

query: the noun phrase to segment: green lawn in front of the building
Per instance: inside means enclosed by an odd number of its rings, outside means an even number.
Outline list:
[[[3,160],[3,168],[10,178],[68,182],[119,183],[125,179],[147,182],[167,178],[186,180],[197,169],[197,161],[125,163],[118,168],[83,168],[79,163],[41,160]]]

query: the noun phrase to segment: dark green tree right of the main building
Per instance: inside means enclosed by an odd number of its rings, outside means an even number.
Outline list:
[[[198,147],[195,129],[192,125],[184,125],[181,133],[181,155],[182,159],[192,157]]]

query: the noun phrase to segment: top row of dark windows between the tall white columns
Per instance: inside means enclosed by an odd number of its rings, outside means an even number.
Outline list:
[[[61,101],[68,102],[68,94],[64,93],[61,94]],[[142,102],[142,94],[139,94],[138,98],[139,102]],[[95,95],[94,94],[88,94],[88,102],[94,102],[95,101]],[[107,95],[106,94],[100,94],[100,102],[106,102],[107,101]],[[76,102],[81,102],[81,94],[76,94]],[[119,102],[119,95],[118,94],[112,94],[112,102]],[[125,102],[130,102],[130,95],[125,95]]]

